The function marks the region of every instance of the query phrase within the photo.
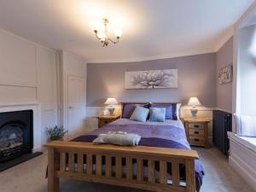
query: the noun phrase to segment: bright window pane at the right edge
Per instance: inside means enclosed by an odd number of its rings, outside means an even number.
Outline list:
[[[238,31],[239,48],[239,94],[240,111],[256,115],[256,26],[247,26]]]

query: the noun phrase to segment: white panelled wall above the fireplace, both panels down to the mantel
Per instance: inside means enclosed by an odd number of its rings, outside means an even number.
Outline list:
[[[0,58],[0,102],[36,101],[36,45],[0,31]]]

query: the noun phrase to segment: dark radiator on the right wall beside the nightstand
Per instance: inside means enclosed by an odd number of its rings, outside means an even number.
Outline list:
[[[222,151],[223,154],[228,155],[230,150],[230,141],[227,131],[232,131],[232,115],[220,110],[213,110],[213,143]]]

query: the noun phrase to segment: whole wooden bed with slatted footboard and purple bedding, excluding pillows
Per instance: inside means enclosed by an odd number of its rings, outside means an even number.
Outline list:
[[[137,133],[142,139],[136,147],[91,143],[108,131]],[[72,141],[48,143],[46,147],[49,192],[59,191],[60,177],[151,191],[195,192],[200,190],[204,175],[199,156],[189,147],[178,119],[141,123],[122,118]]]

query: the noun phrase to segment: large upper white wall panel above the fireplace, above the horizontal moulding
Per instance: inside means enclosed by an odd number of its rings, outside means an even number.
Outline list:
[[[0,33],[1,84],[37,86],[36,46]]]

